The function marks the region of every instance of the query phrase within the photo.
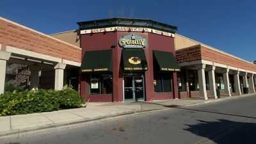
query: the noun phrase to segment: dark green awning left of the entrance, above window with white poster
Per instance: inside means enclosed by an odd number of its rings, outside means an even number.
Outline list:
[[[82,72],[112,72],[112,50],[86,51],[81,64]]]

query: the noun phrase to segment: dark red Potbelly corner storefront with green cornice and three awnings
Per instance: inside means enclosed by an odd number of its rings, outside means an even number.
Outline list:
[[[87,100],[136,102],[179,97],[176,27],[136,19],[78,24],[83,55],[81,95]]]

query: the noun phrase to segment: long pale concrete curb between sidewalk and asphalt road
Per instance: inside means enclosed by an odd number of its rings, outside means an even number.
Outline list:
[[[225,97],[225,98],[221,98],[221,99],[207,100],[207,101],[204,101],[204,102],[198,102],[198,103],[195,103],[195,104],[187,104],[187,105],[184,105],[184,106],[198,106],[198,105],[202,105],[202,104],[220,102],[220,101],[229,100],[229,99],[239,99],[239,98],[248,97],[248,96],[252,96],[252,95],[255,95],[255,93],[249,93],[249,94],[246,94],[246,95],[239,95],[239,96],[233,96],[233,97]],[[20,133],[24,133],[24,132],[39,131],[39,130],[44,130],[44,129],[51,129],[51,128],[54,128],[54,127],[61,127],[61,126],[74,125],[74,124],[82,124],[82,123],[92,122],[92,121],[96,121],[96,120],[102,120],[102,119],[106,119],[106,118],[116,118],[118,116],[134,115],[134,114],[138,114],[138,113],[150,113],[150,112],[157,112],[157,111],[167,111],[169,109],[174,109],[174,108],[145,109],[145,110],[138,110],[138,111],[127,111],[127,112],[124,112],[124,113],[116,113],[116,114],[111,114],[111,115],[106,115],[106,116],[99,116],[99,117],[96,117],[96,118],[83,118],[82,120],[75,120],[75,121],[71,121],[71,122],[62,122],[62,123],[58,123],[58,124],[47,124],[47,125],[36,126],[36,127],[28,127],[28,128],[24,128],[24,129],[4,131],[4,132],[0,132],[0,138],[3,137],[3,136],[10,136],[10,135],[13,135],[13,134],[20,134]]]

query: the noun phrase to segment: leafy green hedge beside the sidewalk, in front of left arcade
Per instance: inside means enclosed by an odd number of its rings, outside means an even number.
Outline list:
[[[40,113],[60,109],[79,108],[83,100],[76,90],[67,88],[61,91],[28,90],[6,92],[0,95],[0,115]]]

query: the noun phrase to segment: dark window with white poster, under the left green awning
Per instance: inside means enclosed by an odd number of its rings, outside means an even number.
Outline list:
[[[111,74],[92,74],[90,77],[90,94],[107,94],[113,92]]]

